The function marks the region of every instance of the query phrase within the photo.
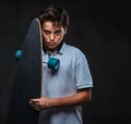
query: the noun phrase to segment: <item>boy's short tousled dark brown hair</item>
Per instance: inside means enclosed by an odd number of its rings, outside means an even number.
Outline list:
[[[38,20],[43,25],[44,22],[51,21],[53,25],[61,25],[64,29],[69,26],[68,12],[58,5],[49,4],[38,14]]]

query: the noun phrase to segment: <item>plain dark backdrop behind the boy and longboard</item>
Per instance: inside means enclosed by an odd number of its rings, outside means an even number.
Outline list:
[[[52,2],[53,1],[53,2]],[[131,8],[126,0],[4,0],[0,3],[0,124],[8,104],[21,48],[31,21],[48,3],[70,14],[67,42],[87,57],[93,100],[84,106],[84,124],[131,124]]]

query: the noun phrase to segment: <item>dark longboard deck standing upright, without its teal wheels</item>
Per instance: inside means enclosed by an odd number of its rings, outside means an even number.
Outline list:
[[[34,18],[22,48],[7,124],[38,124],[39,113],[29,107],[28,101],[40,97],[41,44],[40,24]]]

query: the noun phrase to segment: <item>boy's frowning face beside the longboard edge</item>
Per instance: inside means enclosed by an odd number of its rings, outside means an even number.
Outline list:
[[[56,50],[66,33],[62,26],[53,25],[52,22],[45,22],[41,27],[41,34],[47,49],[51,51]]]

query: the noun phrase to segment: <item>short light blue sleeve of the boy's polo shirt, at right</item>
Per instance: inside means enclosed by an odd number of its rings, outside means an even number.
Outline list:
[[[81,54],[78,55],[76,60],[78,60],[76,65],[75,65],[76,88],[83,89],[83,88],[93,87],[93,79],[92,79],[90,66],[87,63],[87,59],[81,52]]]

